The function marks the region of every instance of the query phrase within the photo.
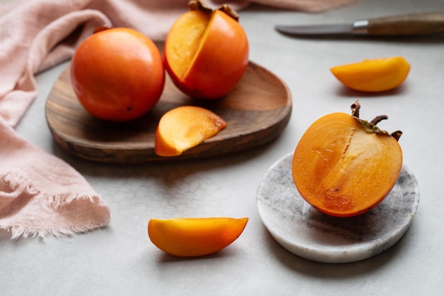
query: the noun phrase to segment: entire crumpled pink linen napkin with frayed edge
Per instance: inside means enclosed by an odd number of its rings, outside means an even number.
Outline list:
[[[323,11],[355,0],[232,0]],[[214,7],[227,1],[204,1]],[[188,0],[33,0],[0,4],[0,229],[65,235],[106,226],[110,209],[74,168],[13,129],[36,95],[34,75],[69,60],[97,26],[127,26],[164,40]]]

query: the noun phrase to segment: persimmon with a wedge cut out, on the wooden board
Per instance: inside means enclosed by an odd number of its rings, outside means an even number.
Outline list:
[[[189,97],[223,97],[247,69],[247,35],[227,5],[212,10],[192,0],[189,7],[191,11],[177,19],[165,40],[165,68]]]

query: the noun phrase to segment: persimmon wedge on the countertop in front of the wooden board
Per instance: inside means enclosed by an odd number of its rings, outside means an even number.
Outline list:
[[[247,222],[248,218],[231,217],[150,219],[148,236],[170,255],[205,256],[238,239]]]

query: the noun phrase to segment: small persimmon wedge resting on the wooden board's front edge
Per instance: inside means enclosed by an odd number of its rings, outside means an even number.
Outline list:
[[[215,136],[227,124],[221,116],[199,106],[179,106],[167,111],[155,134],[155,153],[177,156]]]

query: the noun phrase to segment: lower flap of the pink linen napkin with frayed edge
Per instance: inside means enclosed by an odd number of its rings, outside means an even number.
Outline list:
[[[79,172],[24,141],[4,121],[0,135],[0,229],[16,238],[108,224],[109,207]]]

